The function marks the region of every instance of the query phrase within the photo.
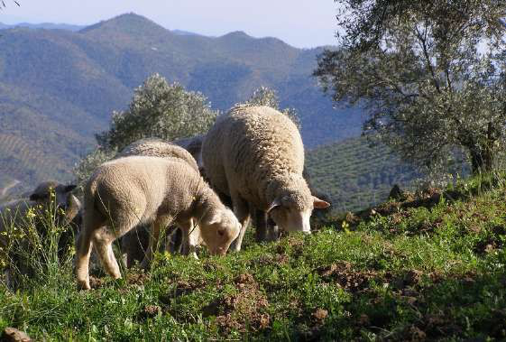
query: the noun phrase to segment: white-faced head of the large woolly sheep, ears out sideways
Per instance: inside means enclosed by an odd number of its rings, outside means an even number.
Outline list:
[[[308,186],[299,182],[299,186],[283,189],[271,202],[266,212],[276,225],[286,232],[311,232],[309,217],[313,208],[328,208],[330,203],[311,195]]]

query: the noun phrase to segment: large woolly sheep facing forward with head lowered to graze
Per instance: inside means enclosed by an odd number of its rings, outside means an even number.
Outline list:
[[[219,116],[202,143],[211,185],[232,198],[242,225],[233,249],[241,249],[252,210],[269,214],[281,230],[310,233],[313,208],[330,204],[311,195],[299,129],[268,106],[235,106]]]

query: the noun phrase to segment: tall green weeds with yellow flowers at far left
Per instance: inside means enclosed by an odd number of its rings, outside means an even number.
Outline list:
[[[54,196],[51,192],[51,199]],[[54,200],[46,206],[13,207],[0,213],[0,282],[26,290],[57,286],[63,274],[71,276],[75,226],[62,217]]]

